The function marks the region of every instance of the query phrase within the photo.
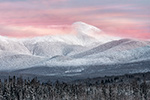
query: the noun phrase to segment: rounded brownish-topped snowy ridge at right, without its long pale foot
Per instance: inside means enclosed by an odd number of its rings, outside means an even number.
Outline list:
[[[83,57],[84,54],[85,52],[78,55],[82,55]],[[122,39],[100,45],[92,50],[86,51],[86,54],[84,57],[86,59],[107,59],[114,63],[128,63],[150,59],[150,45],[143,41]]]

